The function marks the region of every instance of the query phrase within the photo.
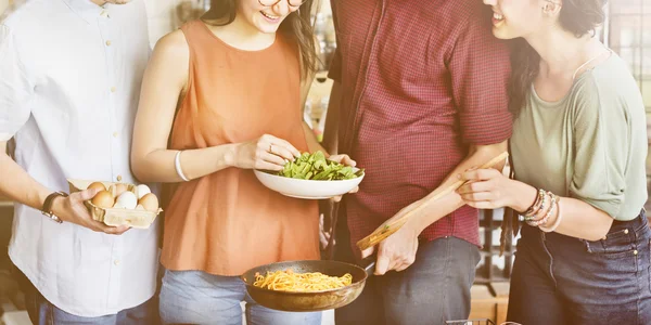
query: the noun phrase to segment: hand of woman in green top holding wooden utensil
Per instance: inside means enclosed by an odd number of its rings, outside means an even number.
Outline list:
[[[495,169],[468,170],[461,174],[461,179],[469,183],[459,187],[457,193],[463,203],[477,209],[519,209],[519,196],[527,193],[519,186],[523,183],[511,180]]]

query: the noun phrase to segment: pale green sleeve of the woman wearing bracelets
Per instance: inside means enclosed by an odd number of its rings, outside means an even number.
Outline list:
[[[592,80],[577,89],[570,196],[617,218],[626,195],[630,128],[622,103],[608,100]]]

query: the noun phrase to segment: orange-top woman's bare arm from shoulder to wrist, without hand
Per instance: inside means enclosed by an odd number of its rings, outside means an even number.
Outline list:
[[[142,81],[140,105],[133,127],[131,167],[143,182],[179,182],[176,151],[167,150],[176,107],[188,83],[190,50],[178,30],[156,44]],[[186,151],[182,171],[195,179],[232,165],[233,146]]]

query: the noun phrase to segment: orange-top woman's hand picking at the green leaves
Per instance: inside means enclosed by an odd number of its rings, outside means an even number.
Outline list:
[[[259,139],[238,144],[233,165],[242,169],[279,171],[288,160],[299,156],[301,152],[289,142],[265,134]]]

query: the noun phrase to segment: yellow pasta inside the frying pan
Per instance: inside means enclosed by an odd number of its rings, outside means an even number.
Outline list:
[[[267,272],[266,275],[256,273],[253,285],[276,291],[316,292],[342,288],[352,283],[353,275],[349,273],[343,276],[330,276],[320,272],[295,273],[292,270],[285,270]]]

